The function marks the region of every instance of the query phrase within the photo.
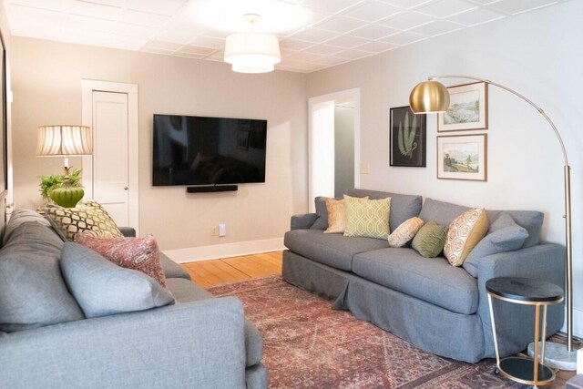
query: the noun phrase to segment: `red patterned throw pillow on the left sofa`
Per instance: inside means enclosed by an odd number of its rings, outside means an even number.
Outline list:
[[[158,242],[153,235],[148,234],[144,238],[98,238],[81,232],[77,233],[75,241],[97,251],[122,268],[148,274],[166,288]]]

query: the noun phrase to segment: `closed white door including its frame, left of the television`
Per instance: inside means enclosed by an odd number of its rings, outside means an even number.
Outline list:
[[[93,156],[83,158],[87,198],[138,231],[138,86],[83,80],[82,107],[93,128]]]

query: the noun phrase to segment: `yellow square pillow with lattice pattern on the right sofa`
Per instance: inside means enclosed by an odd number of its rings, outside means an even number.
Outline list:
[[[346,229],[344,236],[363,236],[386,240],[389,236],[391,198],[370,200],[344,195]]]

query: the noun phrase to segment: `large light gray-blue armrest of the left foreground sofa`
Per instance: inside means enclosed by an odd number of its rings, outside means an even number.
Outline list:
[[[10,388],[243,388],[244,316],[233,297],[0,335]]]

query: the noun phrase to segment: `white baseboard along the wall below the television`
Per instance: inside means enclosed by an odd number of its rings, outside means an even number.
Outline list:
[[[238,241],[235,243],[213,244],[211,246],[189,247],[186,249],[165,250],[164,253],[177,263],[217,260],[239,257],[268,251],[284,250],[283,238],[261,241]]]

